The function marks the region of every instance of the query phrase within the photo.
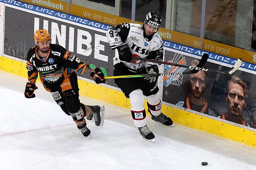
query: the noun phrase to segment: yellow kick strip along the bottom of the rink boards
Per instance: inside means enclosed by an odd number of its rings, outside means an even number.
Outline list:
[[[26,63],[0,56],[0,70],[9,72],[18,76],[27,77]],[[24,82],[25,84],[26,82]],[[130,109],[130,102],[120,91],[96,85],[84,80],[78,80],[80,95],[95,98],[112,105]],[[145,102],[145,108],[146,107]],[[187,127],[212,133],[227,139],[237,141],[249,146],[256,147],[255,131],[237,127],[218,120],[210,119],[201,115],[193,114],[185,110],[176,109],[170,106],[162,105],[163,112],[170,116],[173,122]],[[130,114],[130,113],[128,113]],[[148,114],[148,113],[147,113]],[[148,114],[149,115],[149,114]]]

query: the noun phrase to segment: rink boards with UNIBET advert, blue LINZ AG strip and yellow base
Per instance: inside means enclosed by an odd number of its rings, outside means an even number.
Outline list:
[[[105,31],[110,27],[109,25],[19,1],[0,0],[0,12],[0,27],[1,30],[4,30],[0,31],[0,70],[27,77],[25,65],[26,54],[30,47],[35,46],[33,42],[34,31],[43,27],[51,33],[52,43],[58,43],[67,48],[88,64],[94,64],[96,67],[104,67],[108,72],[108,76],[112,76],[112,58],[117,52],[111,50],[105,37]],[[193,59],[200,59],[203,52],[207,51],[164,41],[164,61],[177,61],[180,64],[190,65]],[[209,53],[207,64],[208,67],[211,66],[221,69],[222,67],[232,67],[234,62],[235,59]],[[221,68],[219,65],[221,65]],[[160,68],[160,72],[172,71],[172,69],[166,66],[164,67],[164,65]],[[179,71],[179,69],[176,71]],[[255,64],[247,62],[244,62],[238,71],[239,75],[243,75],[243,78],[248,77],[250,90],[252,89],[252,97],[248,101],[251,101],[251,103],[255,101],[255,94],[253,93],[255,81],[249,81],[249,78],[251,77],[253,80],[255,71]],[[211,90],[205,90],[205,95],[211,94],[211,91],[216,89],[220,84],[220,82],[215,81],[216,77],[220,76],[209,75],[210,80],[208,84],[211,84],[212,87]],[[179,98],[180,93],[183,92],[183,84],[185,84],[186,79],[187,77],[181,76],[159,78],[158,84],[163,94],[163,112],[166,115],[170,116],[175,123],[247,145],[256,145],[255,129],[192,110],[188,111],[176,106],[177,101],[175,99]],[[225,77],[223,78],[224,80]],[[124,97],[124,94],[116,87],[113,80],[108,80],[103,85],[96,85],[90,80],[88,75],[80,75],[79,87],[81,95],[96,98],[127,109],[130,108],[129,99]],[[218,95],[216,94],[216,96]],[[183,96],[183,94],[180,96]],[[209,97],[209,101],[211,101],[211,98],[216,99],[216,96]],[[147,106],[145,105],[145,107]],[[254,106],[250,104],[250,107],[253,108]],[[225,107],[223,106],[219,110],[222,112],[225,110]],[[246,113],[249,114],[248,111]],[[245,119],[248,119],[248,116],[245,116]]]

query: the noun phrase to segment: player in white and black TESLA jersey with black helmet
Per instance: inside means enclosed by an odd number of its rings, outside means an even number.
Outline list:
[[[161,16],[157,12],[149,12],[143,25],[122,23],[110,28],[106,35],[112,50],[117,49],[119,56],[113,58],[114,76],[157,74],[159,65],[140,60],[132,60],[132,56],[153,60],[163,60],[163,41],[157,31],[161,24]],[[144,97],[147,99],[148,111],[156,122],[172,126],[171,118],[161,112],[161,100],[157,77],[117,78],[117,86],[130,98],[132,118],[145,140],[155,142],[155,135],[149,130],[146,122]]]

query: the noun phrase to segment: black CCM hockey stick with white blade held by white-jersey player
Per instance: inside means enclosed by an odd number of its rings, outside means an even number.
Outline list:
[[[206,56],[207,56],[207,58],[208,58],[208,54],[204,54],[203,56],[202,56],[202,59],[201,60],[203,60],[204,57],[205,56],[205,58],[206,58]],[[214,70],[214,69],[205,69],[205,68],[202,68],[203,67],[203,65],[201,65],[200,64],[200,62],[199,62],[199,64],[196,66],[196,67],[193,67],[193,66],[188,66],[188,65],[180,65],[180,64],[175,64],[175,63],[168,63],[168,62],[164,62],[164,61],[158,61],[158,60],[151,60],[151,59],[143,59],[143,58],[137,58],[137,57],[132,57],[133,59],[135,59],[135,60],[141,60],[141,61],[149,61],[149,62],[152,62],[152,63],[159,63],[159,64],[165,64],[165,65],[174,65],[174,66],[177,66],[177,67],[183,67],[183,68],[190,68],[190,69],[193,69],[193,70],[191,70],[191,74],[194,74],[194,73],[197,73],[198,71],[205,71],[205,72],[212,72],[212,73],[222,73],[222,74],[228,74],[228,75],[232,75],[232,73],[233,72],[235,72],[240,66],[241,66],[241,64],[243,63],[243,60],[241,59],[241,58],[239,58],[237,61],[236,61],[236,64],[235,65],[233,65],[233,67],[231,68],[231,69],[229,69],[228,71],[220,71],[220,70]],[[200,61],[201,61],[200,60]],[[206,61],[205,61],[206,62]],[[203,63],[203,62],[202,62]],[[201,67],[198,67],[198,66],[201,66]],[[198,71],[197,71],[198,70]],[[197,71],[197,72],[196,72]]]

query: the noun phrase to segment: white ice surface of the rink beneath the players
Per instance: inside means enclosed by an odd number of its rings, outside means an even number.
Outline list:
[[[92,139],[85,138],[40,82],[36,97],[25,98],[26,82],[0,71],[0,170],[256,169],[256,148],[147,116],[156,136],[149,143],[128,109],[80,96],[85,104],[105,106],[103,127],[87,121]]]

